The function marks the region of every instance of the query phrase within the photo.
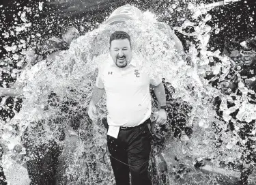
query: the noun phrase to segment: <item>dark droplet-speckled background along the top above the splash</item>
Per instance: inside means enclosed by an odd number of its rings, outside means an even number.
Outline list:
[[[42,0],[41,0],[42,1]],[[37,47],[42,40],[45,40],[52,35],[59,35],[61,27],[67,25],[74,25],[81,30],[84,27],[83,32],[90,31],[98,27],[98,23],[102,23],[115,8],[129,3],[130,5],[136,5],[140,10],[151,10],[160,21],[168,23],[171,27],[182,24],[180,18],[184,15],[186,18],[190,18],[190,12],[187,9],[188,2],[190,0],[184,0],[177,3],[174,0],[48,0],[44,1],[42,11],[39,10],[40,0],[4,0],[0,3],[1,20],[1,54],[0,57],[12,56],[12,52],[5,51],[3,46],[12,46],[19,44],[21,39],[27,40],[27,46]],[[213,3],[213,0],[201,0],[199,3]],[[174,12],[169,12],[169,7],[176,3],[177,8]],[[211,46],[216,48],[223,48],[225,42],[236,38],[236,40],[244,40],[251,37],[255,33],[255,0],[239,1],[229,5],[223,5],[218,8],[214,8],[209,13],[212,15],[212,21],[210,24],[212,27],[221,28],[221,32],[218,35],[212,35],[210,42]],[[31,8],[31,11],[27,13],[28,22],[32,25],[26,31],[22,31],[18,36],[10,35],[9,38],[4,38],[2,33],[14,31],[15,22],[16,25],[22,25],[23,21],[20,20],[18,12],[23,12],[25,8]],[[178,8],[181,8],[179,11]],[[250,22],[250,17],[253,20]],[[16,18],[16,20],[15,20]],[[14,32],[15,33],[15,32]],[[40,33],[40,37],[35,36],[31,38],[31,35]],[[183,38],[183,35],[177,33],[182,42],[187,39]],[[214,41],[213,41],[214,40]],[[217,43],[216,43],[217,42]],[[18,51],[17,51],[18,52]]]

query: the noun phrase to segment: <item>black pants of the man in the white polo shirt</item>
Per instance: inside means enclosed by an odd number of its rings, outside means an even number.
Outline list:
[[[110,159],[116,185],[129,185],[129,173],[132,177],[132,185],[152,184],[148,173],[152,137],[147,124],[150,124],[150,119],[141,126],[128,130],[120,129],[117,139],[108,135],[107,141],[109,152],[113,156]]]

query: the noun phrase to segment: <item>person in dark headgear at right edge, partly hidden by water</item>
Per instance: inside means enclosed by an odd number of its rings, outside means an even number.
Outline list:
[[[247,99],[250,104],[256,104],[256,38],[249,38],[244,42],[242,54],[243,66],[240,70],[240,78],[244,83],[244,86],[249,90],[247,93]],[[242,43],[241,43],[242,45]],[[237,82],[236,82],[237,83]],[[242,95],[242,92],[240,92]],[[255,169],[256,163],[256,150],[255,150],[255,122],[253,119],[251,122],[243,122],[243,126],[240,128],[238,134],[240,137],[246,141],[244,151],[242,152],[241,160],[243,161],[242,172],[240,175],[240,182],[243,185],[248,184],[248,176],[251,175]]]

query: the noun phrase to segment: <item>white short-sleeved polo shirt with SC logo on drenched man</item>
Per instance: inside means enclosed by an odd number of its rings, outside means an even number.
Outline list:
[[[137,59],[126,68],[118,68],[109,55],[100,66],[96,87],[106,91],[107,121],[111,126],[134,127],[150,118],[152,100],[150,84],[159,85],[138,68]]]

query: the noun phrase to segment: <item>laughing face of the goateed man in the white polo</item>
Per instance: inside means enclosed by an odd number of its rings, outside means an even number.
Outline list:
[[[125,68],[132,59],[132,48],[128,39],[113,40],[110,46],[110,55],[119,68]]]

